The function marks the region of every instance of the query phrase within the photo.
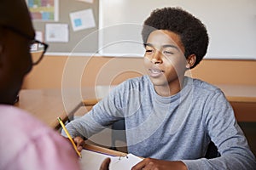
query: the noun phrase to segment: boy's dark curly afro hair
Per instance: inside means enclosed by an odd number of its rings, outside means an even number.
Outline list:
[[[143,42],[146,43],[149,34],[154,30],[167,30],[175,32],[181,38],[185,48],[185,57],[196,55],[195,65],[207,54],[209,37],[206,27],[200,20],[182,8],[158,8],[155,9],[143,24]]]

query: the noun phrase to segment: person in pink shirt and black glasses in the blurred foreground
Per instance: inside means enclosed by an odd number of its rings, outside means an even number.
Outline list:
[[[13,104],[32,70],[35,31],[24,0],[0,0],[0,169],[79,169],[72,145]],[[44,46],[47,45],[37,42]]]

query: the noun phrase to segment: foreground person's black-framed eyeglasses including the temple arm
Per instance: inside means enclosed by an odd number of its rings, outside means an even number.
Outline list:
[[[40,42],[38,40],[32,39],[25,33],[15,29],[14,27],[3,26],[3,28],[9,29],[10,31],[14,31],[15,33],[18,33],[20,36],[26,37],[27,39],[32,40],[30,45],[30,54],[32,55],[32,65],[38,65],[38,63],[43,59],[44,54],[47,48],[49,47],[49,45],[44,42]]]

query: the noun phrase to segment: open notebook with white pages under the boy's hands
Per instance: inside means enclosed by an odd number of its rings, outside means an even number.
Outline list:
[[[131,167],[143,160],[142,158],[132,154],[128,154],[126,156],[110,156],[91,150],[82,150],[81,154],[82,158],[80,160],[80,166],[83,170],[99,170],[102,165],[102,161],[107,157],[111,159],[109,170],[131,170]]]

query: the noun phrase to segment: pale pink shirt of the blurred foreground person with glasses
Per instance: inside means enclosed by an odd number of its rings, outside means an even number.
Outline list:
[[[69,141],[26,111],[0,105],[1,170],[80,169]]]

